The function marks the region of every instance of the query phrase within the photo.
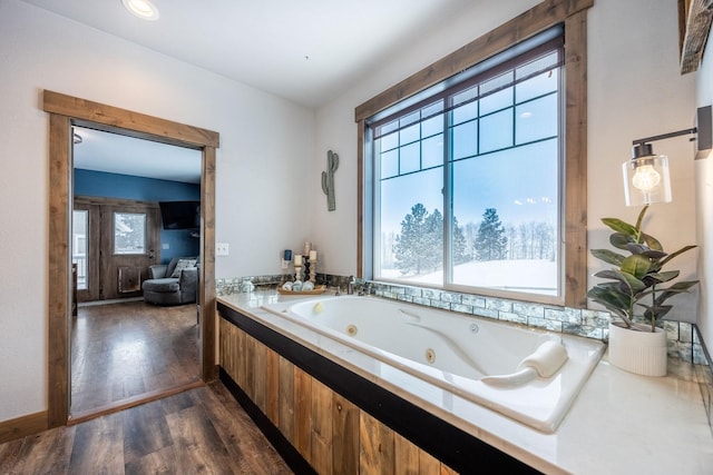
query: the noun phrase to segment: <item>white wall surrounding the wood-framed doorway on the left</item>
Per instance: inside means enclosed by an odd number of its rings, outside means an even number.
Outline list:
[[[0,0],[0,420],[47,408],[42,89],[221,133],[216,238],[231,256],[216,258],[217,277],[277,273],[281,249],[309,234],[295,197],[315,155],[310,109],[17,0]]]

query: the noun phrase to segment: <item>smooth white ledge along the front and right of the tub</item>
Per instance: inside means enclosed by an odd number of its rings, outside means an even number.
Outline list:
[[[281,299],[285,297],[275,290],[257,290],[223,295],[218,307],[234,309],[343,365],[339,358],[323,354],[321,345],[310,343],[309,336],[294,336],[291,331],[299,325],[291,328],[284,318],[261,308]],[[475,403],[459,400],[449,407],[439,406],[428,394],[394,387],[381,375],[367,374],[358,365],[348,366],[459,431],[546,473],[709,474],[713,466],[713,436],[695,369],[691,369],[701,366],[680,359],[673,365],[687,368],[691,377],[632,375],[611,366],[605,354],[555,434],[528,428]],[[433,389],[426,389],[430,390]],[[666,442],[651,442],[662,439]]]

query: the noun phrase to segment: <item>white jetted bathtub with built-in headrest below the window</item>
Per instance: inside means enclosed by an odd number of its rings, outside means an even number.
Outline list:
[[[556,431],[605,348],[593,339],[375,297],[263,308],[545,433]]]

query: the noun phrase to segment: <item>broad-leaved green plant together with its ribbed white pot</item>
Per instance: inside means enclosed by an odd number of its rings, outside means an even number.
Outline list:
[[[621,319],[609,321],[609,363],[632,373],[664,376],[666,333],[660,325],[673,308],[666,300],[697,284],[673,283],[680,271],[664,270],[664,266],[696,246],[666,254],[656,238],[642,230],[647,209],[648,205],[638,214],[635,226],[616,218],[602,219],[614,230],[609,236],[612,246],[626,254],[592,249],[594,257],[614,267],[595,274],[607,280],[592,287],[587,297]]]

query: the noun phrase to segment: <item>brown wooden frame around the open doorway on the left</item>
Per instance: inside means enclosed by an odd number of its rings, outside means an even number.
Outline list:
[[[215,357],[215,149],[219,133],[119,109],[49,90],[42,91],[49,113],[49,269],[48,269],[48,404],[47,425],[69,418],[71,311],[72,125],[201,150],[201,378],[217,377]]]

